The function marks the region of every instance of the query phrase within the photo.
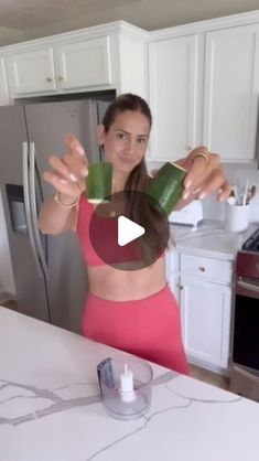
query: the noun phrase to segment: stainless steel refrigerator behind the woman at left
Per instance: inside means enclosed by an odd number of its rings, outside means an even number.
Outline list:
[[[51,154],[74,133],[89,161],[99,161],[96,128],[107,101],[72,100],[0,107],[0,189],[18,310],[79,332],[87,272],[75,233],[45,236],[37,227],[53,187],[42,180]],[[1,258],[1,255],[0,255]]]

